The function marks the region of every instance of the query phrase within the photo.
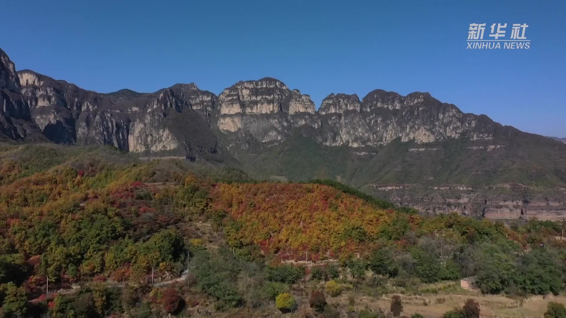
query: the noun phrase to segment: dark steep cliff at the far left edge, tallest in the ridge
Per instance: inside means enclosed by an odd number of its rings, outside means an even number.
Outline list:
[[[15,65],[0,49],[0,138],[6,137],[12,140],[45,140],[31,120]]]

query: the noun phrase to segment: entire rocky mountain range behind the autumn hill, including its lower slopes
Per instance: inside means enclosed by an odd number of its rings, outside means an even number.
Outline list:
[[[494,218],[566,213],[566,144],[463,113],[429,93],[331,93],[318,110],[280,80],[97,93],[0,49],[0,140],[112,145],[218,162],[256,178],[328,178],[431,212]]]

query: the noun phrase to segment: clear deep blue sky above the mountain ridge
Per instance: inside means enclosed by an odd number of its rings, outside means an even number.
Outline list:
[[[5,50],[85,89],[216,94],[271,76],[310,94],[430,92],[566,137],[564,1],[6,1]],[[466,50],[470,23],[529,24],[529,50]],[[486,27],[487,38],[489,29]]]

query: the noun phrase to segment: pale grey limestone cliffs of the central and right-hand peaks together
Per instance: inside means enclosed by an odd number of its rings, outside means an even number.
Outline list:
[[[218,104],[220,131],[231,138],[245,132],[261,143],[283,141],[292,128],[327,146],[379,147],[397,138],[417,143],[490,140],[501,127],[421,92],[401,96],[376,89],[362,101],[356,94],[332,93],[315,111],[308,95],[271,78],[238,82],[218,96]]]

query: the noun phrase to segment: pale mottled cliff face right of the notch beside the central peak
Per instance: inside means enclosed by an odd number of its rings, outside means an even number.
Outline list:
[[[378,101],[373,105],[366,104],[362,109],[365,111],[333,113],[327,122],[334,129],[327,132],[324,143],[378,147],[397,138],[401,141],[431,143],[465,135],[474,140],[492,137],[489,131],[475,129],[477,116],[463,114],[456,106],[442,104],[434,98],[411,98],[410,104],[402,104],[398,99],[387,104]],[[491,121],[486,124],[496,125]]]

